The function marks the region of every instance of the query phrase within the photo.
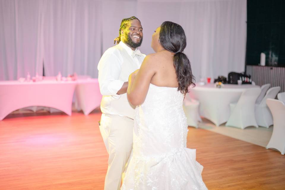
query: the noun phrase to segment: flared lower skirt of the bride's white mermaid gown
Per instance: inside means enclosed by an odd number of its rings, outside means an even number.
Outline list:
[[[131,154],[121,190],[204,190],[202,170],[195,149],[160,156]]]

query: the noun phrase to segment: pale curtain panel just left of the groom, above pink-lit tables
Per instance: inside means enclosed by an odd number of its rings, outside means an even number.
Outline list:
[[[101,57],[102,2],[44,1],[43,39],[46,76],[97,77]]]

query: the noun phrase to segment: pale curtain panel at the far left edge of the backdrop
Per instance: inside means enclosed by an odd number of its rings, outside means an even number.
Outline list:
[[[40,1],[0,1],[0,80],[42,75],[41,17]]]

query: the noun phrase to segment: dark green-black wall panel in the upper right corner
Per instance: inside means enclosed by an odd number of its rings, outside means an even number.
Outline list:
[[[247,1],[246,63],[285,66],[285,0]]]

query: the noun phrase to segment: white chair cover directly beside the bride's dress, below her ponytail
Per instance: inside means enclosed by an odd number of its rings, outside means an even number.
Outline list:
[[[198,122],[201,121],[199,115],[199,101],[191,99],[187,93],[183,102],[183,110],[187,118],[188,126],[198,128]]]

